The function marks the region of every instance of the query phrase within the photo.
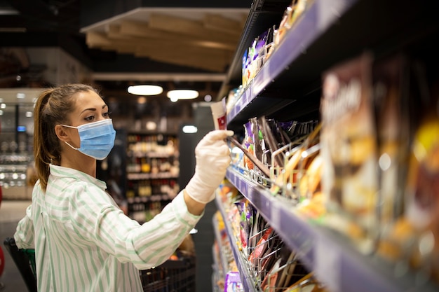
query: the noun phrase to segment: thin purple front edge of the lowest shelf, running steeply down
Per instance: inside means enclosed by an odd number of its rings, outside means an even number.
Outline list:
[[[243,288],[246,292],[257,292],[259,290],[255,287],[252,277],[250,276],[250,267],[248,266],[248,261],[243,257],[241,251],[238,250],[238,245],[236,244],[236,237],[234,237],[234,233],[232,231],[230,222],[227,220],[226,211],[224,210],[224,206],[222,205],[219,196],[216,197],[216,203],[222,218],[224,218],[224,226],[226,228],[227,236],[229,237],[231,251],[234,254],[236,266],[238,267],[239,274],[241,276],[241,282],[243,284]]]

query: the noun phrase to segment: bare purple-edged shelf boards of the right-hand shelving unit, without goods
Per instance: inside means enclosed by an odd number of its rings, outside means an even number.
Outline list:
[[[241,43],[229,69],[221,95],[241,85],[241,57],[264,30],[278,25],[290,1],[255,1]],[[321,78],[333,65],[365,50],[375,58],[400,48],[428,48],[439,35],[433,1],[314,0],[285,35],[281,44],[250,82],[227,115],[227,127],[243,131],[249,118],[300,120],[319,115]],[[416,272],[396,275],[395,267],[374,256],[360,254],[339,235],[311,225],[295,214],[292,202],[273,196],[266,188],[229,168],[227,179],[256,207],[283,241],[300,253],[309,270],[316,272],[330,291],[438,291],[437,284],[419,281]],[[227,218],[222,204],[218,209]],[[245,258],[227,221],[227,232],[241,271],[245,291],[252,284]]]

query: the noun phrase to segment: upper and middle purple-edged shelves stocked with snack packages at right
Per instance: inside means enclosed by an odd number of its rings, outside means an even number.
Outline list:
[[[264,22],[269,4],[225,82],[250,153],[231,144],[227,179],[329,291],[437,291],[437,7],[297,0]]]

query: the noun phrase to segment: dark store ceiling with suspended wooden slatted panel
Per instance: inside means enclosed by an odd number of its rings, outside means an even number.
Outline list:
[[[58,46],[104,93],[126,98],[128,85],[156,83],[215,98],[252,1],[182,2],[0,0],[0,49],[14,48],[0,51],[0,87],[35,85],[43,68],[20,48]]]

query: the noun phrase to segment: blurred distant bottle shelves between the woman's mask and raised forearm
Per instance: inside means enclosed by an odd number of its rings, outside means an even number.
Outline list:
[[[177,195],[178,155],[176,134],[128,133],[128,216],[140,222],[149,221]]]

